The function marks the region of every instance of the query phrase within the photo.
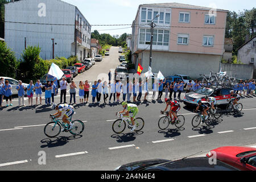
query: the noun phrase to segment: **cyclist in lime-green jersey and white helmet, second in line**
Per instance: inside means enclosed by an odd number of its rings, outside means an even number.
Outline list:
[[[139,111],[138,106],[135,104],[127,104],[127,102],[125,102],[125,101],[122,102],[122,106],[123,106],[123,110],[119,111],[115,115],[120,114],[120,113],[125,113],[125,114],[123,114],[123,116],[129,117],[129,113],[132,113],[132,115],[131,115],[131,123],[132,123],[131,131],[134,131],[136,129],[136,126],[134,125],[134,118],[135,118],[135,115],[137,115],[137,113]]]

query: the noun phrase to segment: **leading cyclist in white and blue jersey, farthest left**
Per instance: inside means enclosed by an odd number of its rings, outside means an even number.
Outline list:
[[[56,104],[52,104],[52,110],[57,110],[57,113],[53,114],[53,116],[55,116],[56,118],[59,118],[61,116],[61,112],[63,110],[65,110],[65,114],[63,115],[62,121],[66,124],[68,124],[68,130],[71,130],[73,127],[73,123],[68,121],[68,118],[72,117],[72,115],[74,114],[74,109],[72,105],[68,105],[68,104],[60,104],[60,105],[56,105]],[[61,130],[61,131],[64,131]]]

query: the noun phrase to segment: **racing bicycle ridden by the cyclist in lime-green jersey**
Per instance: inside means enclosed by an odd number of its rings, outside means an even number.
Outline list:
[[[131,129],[132,123],[130,120],[130,116],[123,116],[122,114],[118,114],[119,119],[115,120],[112,129],[114,133],[120,134],[125,130],[126,123],[127,127]],[[142,118],[134,118],[134,125],[136,126],[136,129],[134,131],[141,131],[144,127],[144,120]]]

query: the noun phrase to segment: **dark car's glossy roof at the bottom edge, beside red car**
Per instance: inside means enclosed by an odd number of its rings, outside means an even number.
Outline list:
[[[216,161],[210,164],[209,158],[185,158],[180,160],[142,160],[119,166],[116,171],[238,171],[237,168]]]

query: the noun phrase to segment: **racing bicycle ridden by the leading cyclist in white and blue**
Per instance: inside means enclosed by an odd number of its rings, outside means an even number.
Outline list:
[[[50,114],[50,119],[52,120],[44,127],[44,134],[47,137],[53,138],[57,137],[60,134],[61,127],[64,128],[63,131],[71,133],[72,135],[79,135],[84,131],[84,123],[80,120],[72,121],[72,117],[68,119],[69,122],[73,123],[72,129],[68,129],[66,123],[62,122],[62,119],[55,118],[52,114]]]

